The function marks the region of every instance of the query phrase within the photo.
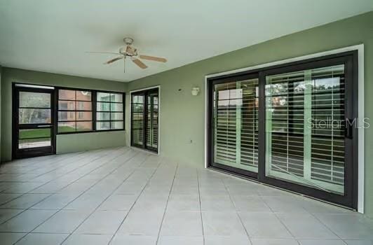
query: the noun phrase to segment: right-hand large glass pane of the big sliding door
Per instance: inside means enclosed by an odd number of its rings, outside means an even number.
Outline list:
[[[266,176],[344,195],[344,65],[266,77]]]

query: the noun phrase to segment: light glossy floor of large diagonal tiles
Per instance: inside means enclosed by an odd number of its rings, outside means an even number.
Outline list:
[[[373,244],[373,221],[130,148],[0,169],[0,243]]]

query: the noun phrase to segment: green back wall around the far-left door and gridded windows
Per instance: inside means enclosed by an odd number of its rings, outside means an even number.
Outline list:
[[[11,160],[12,154],[12,83],[55,85],[117,92],[124,92],[127,87],[126,83],[110,80],[6,67],[3,67],[1,75],[1,160],[3,162]],[[57,135],[57,153],[124,145],[126,145],[126,139],[123,131]]]

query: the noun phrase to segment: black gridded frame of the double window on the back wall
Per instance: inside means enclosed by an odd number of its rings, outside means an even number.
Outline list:
[[[58,112],[59,111],[71,111],[71,110],[60,110],[59,108],[59,91],[60,90],[75,90],[75,91],[88,91],[91,92],[91,112],[92,112],[92,130],[86,130],[86,131],[75,131],[75,132],[58,132],[58,123],[68,122],[68,121],[60,121],[58,119]],[[123,128],[122,129],[115,129],[115,130],[97,130],[96,123],[97,123],[97,92],[103,92],[103,93],[109,93],[109,94],[121,94],[122,95],[122,102],[118,102],[118,104],[123,104],[123,111],[118,111],[118,113],[123,113],[123,120],[116,120],[116,121],[123,121]],[[66,99],[62,99],[65,100]],[[78,100],[79,101],[79,100]],[[76,100],[75,100],[76,102]],[[87,101],[85,101],[87,102]],[[74,111],[77,115],[77,113],[81,111]],[[83,110],[84,111],[84,110]],[[93,132],[111,132],[111,131],[125,131],[126,130],[126,92],[120,92],[120,91],[112,91],[112,90],[90,90],[82,87],[57,87],[55,86],[55,134],[56,135],[62,135],[62,134],[86,134],[86,133],[93,133]],[[76,116],[75,115],[75,116]],[[76,120],[75,118],[74,122],[84,122],[86,120]],[[98,120],[101,121],[101,120]]]

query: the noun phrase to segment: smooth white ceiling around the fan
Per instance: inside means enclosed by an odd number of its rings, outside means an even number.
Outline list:
[[[0,0],[0,64],[128,82],[373,10],[372,0]],[[123,37],[168,62],[102,64]],[[114,56],[115,57],[115,56]]]

